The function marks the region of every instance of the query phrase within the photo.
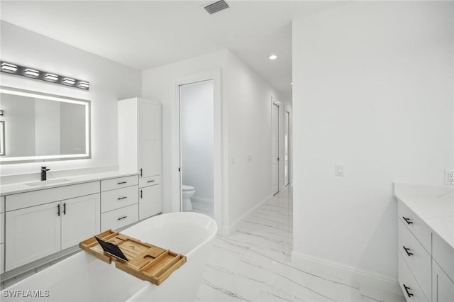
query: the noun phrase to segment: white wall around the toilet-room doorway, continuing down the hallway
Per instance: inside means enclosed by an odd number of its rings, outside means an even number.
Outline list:
[[[270,195],[271,96],[285,100],[229,50],[145,70],[142,96],[162,102],[164,211],[179,211],[179,203],[166,202],[172,200],[172,81],[183,75],[216,68],[221,68],[222,140],[227,145],[223,156],[227,163],[224,169],[228,172],[228,204],[224,205],[228,213],[223,213],[223,227],[228,228],[262,198]],[[249,155],[252,156],[250,162]]]

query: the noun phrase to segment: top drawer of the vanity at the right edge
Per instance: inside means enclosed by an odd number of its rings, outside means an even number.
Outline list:
[[[431,229],[416,214],[411,211],[402,201],[397,203],[397,214],[406,228],[421,242],[426,251],[431,251]]]

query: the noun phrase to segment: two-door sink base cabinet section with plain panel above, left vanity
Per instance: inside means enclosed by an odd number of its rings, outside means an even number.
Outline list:
[[[7,196],[5,270],[77,245],[99,219],[98,181]]]

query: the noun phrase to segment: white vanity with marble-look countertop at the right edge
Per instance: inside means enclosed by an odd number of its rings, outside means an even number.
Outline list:
[[[454,199],[446,188],[394,184],[398,281],[406,301],[454,301]]]

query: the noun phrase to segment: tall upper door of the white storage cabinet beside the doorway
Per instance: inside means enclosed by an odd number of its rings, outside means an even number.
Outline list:
[[[161,106],[139,99],[139,169],[142,177],[161,174]]]

